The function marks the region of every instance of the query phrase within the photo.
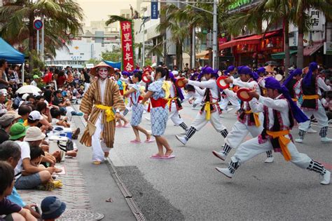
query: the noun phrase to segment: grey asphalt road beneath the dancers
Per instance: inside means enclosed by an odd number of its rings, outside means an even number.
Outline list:
[[[189,126],[197,112],[186,104],[181,117]],[[220,120],[231,130],[234,111],[224,116]],[[146,119],[141,126],[151,129]],[[174,137],[181,131],[168,122],[165,137],[176,157],[156,160],[149,158],[157,152],[155,143],[130,144],[132,129],[117,128],[111,160],[148,220],[331,220],[332,185],[320,185],[317,173],[300,169],[274,153],[274,163],[264,163],[265,154],[261,154],[229,179],[214,169],[226,167],[230,161],[212,155],[212,150],[224,143],[220,133],[208,123],[184,147]],[[292,131],[294,138],[297,133],[297,129]],[[305,143],[296,146],[332,169],[332,144],[321,144],[318,133],[307,134]],[[233,154],[234,150],[230,156]],[[153,218],[158,213],[162,215]]]

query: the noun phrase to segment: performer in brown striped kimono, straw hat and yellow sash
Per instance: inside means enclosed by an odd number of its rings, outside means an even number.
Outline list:
[[[109,149],[113,148],[116,132],[115,119],[125,109],[123,97],[120,95],[118,85],[108,78],[113,73],[113,67],[100,62],[90,70],[90,74],[97,76],[85,92],[80,110],[84,113],[88,126],[85,128],[81,143],[87,147],[92,146],[92,162],[99,165],[104,157],[109,156]],[[100,135],[106,147],[100,143]]]

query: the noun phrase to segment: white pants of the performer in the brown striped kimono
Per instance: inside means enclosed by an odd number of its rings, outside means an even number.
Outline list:
[[[95,124],[96,130],[92,135],[92,161],[104,161],[104,152],[109,152],[108,147],[102,147],[100,142],[100,133],[104,128],[104,124],[102,124],[102,114],[99,114],[97,122]]]

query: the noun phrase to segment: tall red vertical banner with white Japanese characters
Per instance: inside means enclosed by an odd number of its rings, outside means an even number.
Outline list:
[[[134,70],[134,41],[132,35],[132,22],[123,21],[120,22],[121,27],[121,43],[123,49],[122,65],[123,70],[126,72],[132,72]]]

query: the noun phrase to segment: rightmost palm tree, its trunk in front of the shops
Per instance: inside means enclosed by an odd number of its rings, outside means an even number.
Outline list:
[[[307,11],[310,8],[317,8],[322,11],[327,18],[332,18],[332,1],[331,0],[291,0],[291,6],[296,9],[295,24],[298,27],[298,56],[296,65],[303,68],[303,36],[305,31],[310,29],[310,16]]]

